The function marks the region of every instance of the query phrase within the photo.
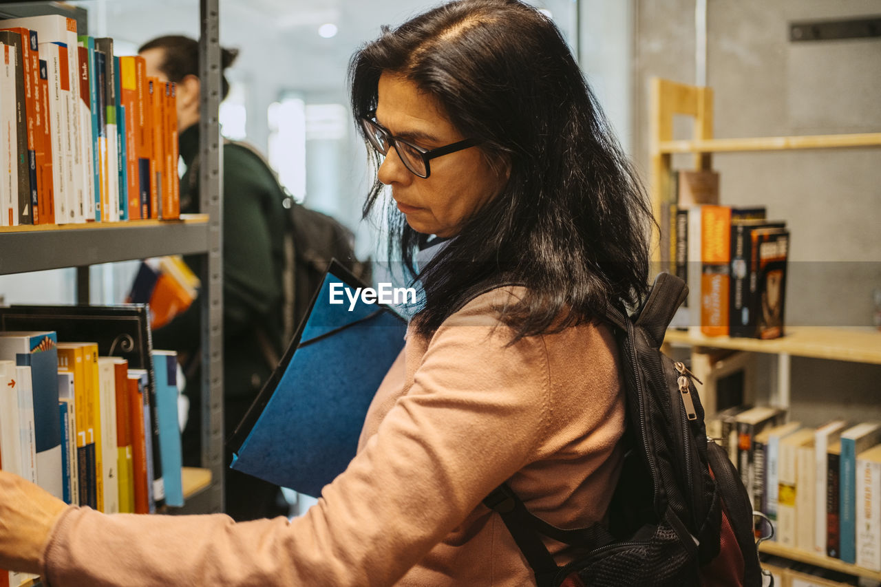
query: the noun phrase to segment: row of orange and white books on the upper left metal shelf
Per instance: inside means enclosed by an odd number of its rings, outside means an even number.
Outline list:
[[[0,226],[179,218],[175,93],[74,19],[0,20]]]

